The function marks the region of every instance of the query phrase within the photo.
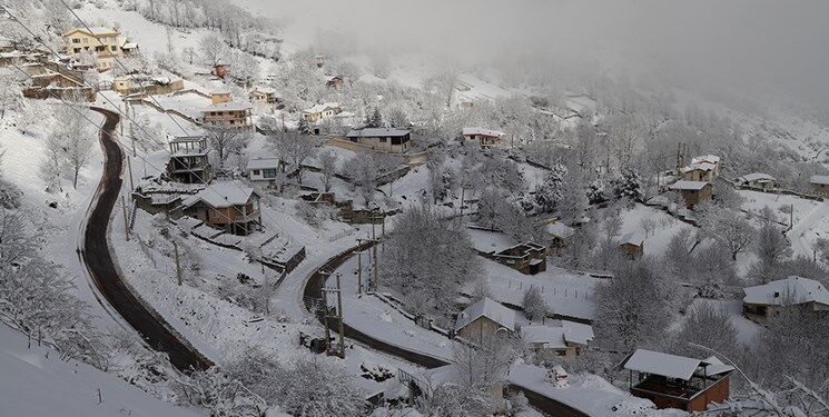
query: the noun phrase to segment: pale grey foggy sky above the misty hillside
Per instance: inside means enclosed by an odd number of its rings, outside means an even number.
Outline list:
[[[697,81],[829,96],[829,0],[244,2],[274,18],[290,17],[300,30],[346,31],[363,47],[420,46],[481,57],[530,46],[588,57],[613,50],[633,62],[671,63]]]

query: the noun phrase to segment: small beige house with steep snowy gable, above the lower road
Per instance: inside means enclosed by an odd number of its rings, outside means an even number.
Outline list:
[[[470,341],[515,331],[515,311],[492,298],[484,297],[457,315],[455,332]]]

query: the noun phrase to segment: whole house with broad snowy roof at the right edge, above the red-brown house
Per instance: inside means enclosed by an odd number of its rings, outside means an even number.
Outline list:
[[[792,276],[747,287],[742,291],[743,315],[756,321],[766,320],[791,308],[822,312],[829,317],[829,290],[813,279]]]

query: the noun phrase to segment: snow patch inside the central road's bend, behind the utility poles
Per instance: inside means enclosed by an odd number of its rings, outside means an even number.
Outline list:
[[[373,276],[373,267],[369,265],[371,250],[364,251],[362,258],[362,282],[365,288]],[[328,278],[327,287],[336,288],[336,274],[341,274],[343,314],[346,324],[389,345],[447,361],[452,360],[454,342],[447,337],[415,325],[414,321],[375,296],[365,294],[358,296],[357,270],[357,257],[353,257]],[[332,307],[336,306],[336,299],[329,298],[328,304]]]

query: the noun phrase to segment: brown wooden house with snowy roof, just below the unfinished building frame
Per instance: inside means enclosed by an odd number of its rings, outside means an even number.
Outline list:
[[[181,212],[229,234],[247,236],[261,225],[259,193],[233,181],[217,181],[181,201]]]

